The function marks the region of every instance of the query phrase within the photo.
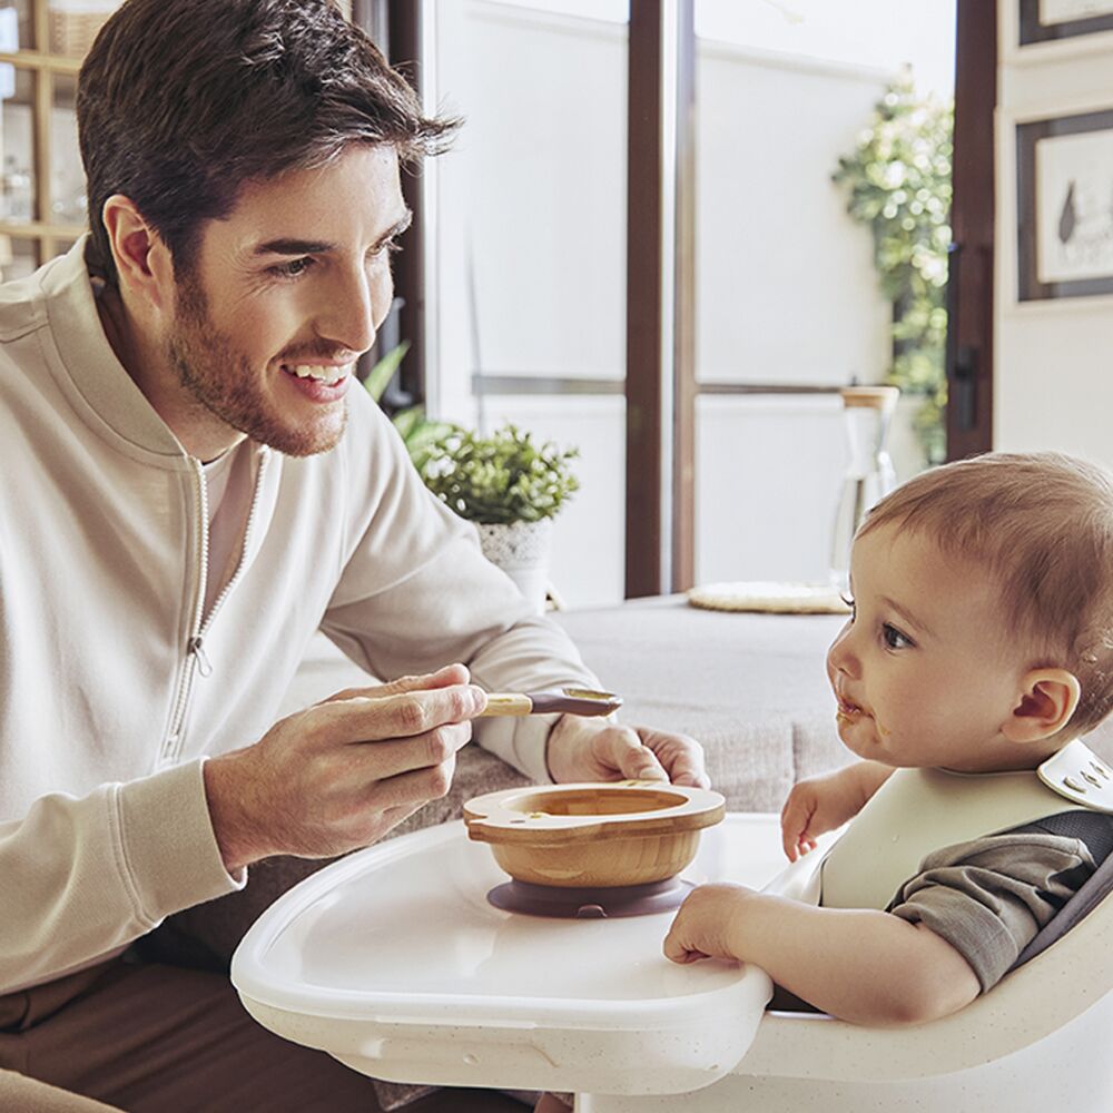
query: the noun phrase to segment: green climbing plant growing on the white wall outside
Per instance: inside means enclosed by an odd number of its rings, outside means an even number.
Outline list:
[[[834,174],[849,187],[847,211],[873,232],[874,263],[893,302],[888,382],[923,397],[914,427],[930,463],[946,455],[953,135],[953,104],[917,97],[905,75],[886,90]]]

